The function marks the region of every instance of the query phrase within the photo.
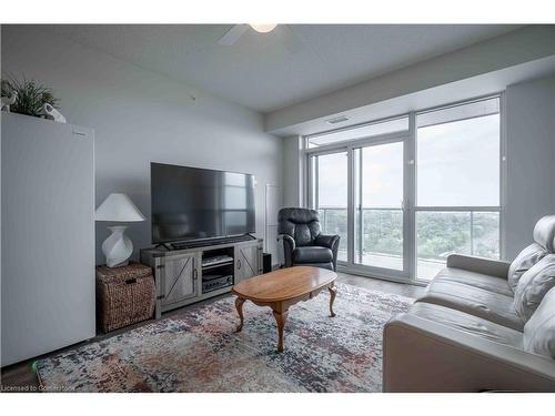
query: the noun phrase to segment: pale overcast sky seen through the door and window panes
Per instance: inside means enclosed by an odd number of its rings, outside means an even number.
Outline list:
[[[362,152],[363,206],[401,206],[403,143]],[[346,207],[346,152],[319,158],[320,206]],[[498,205],[500,115],[418,129],[416,172],[418,206]]]

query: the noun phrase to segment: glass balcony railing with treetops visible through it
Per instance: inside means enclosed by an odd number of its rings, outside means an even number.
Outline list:
[[[341,236],[339,258],[346,261],[347,209],[325,206],[317,211],[323,232]],[[498,212],[417,211],[415,225],[418,278],[433,277],[453,253],[500,256]],[[403,211],[392,207],[357,210],[355,262],[402,268],[402,258]]]

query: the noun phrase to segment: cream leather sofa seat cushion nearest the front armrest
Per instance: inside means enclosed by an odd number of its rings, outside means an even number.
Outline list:
[[[486,291],[465,283],[432,281],[416,302],[451,307],[515,331],[523,331],[524,322],[513,306],[513,297]]]

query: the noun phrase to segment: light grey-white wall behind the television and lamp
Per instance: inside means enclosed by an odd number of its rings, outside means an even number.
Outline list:
[[[40,29],[2,26],[1,38],[2,77],[51,87],[70,123],[94,129],[97,205],[124,192],[148,217],[129,230],[135,258],[151,243],[151,161],[254,174],[264,236],[265,184],[282,186],[283,144],[261,114]],[[98,263],[105,225],[97,224]]]

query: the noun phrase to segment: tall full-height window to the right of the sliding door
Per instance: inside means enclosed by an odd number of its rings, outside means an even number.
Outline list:
[[[417,277],[452,253],[500,257],[500,99],[416,116]]]

